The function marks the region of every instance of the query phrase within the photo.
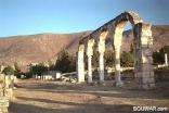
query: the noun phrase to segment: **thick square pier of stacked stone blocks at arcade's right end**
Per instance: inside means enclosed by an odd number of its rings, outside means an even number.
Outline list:
[[[153,37],[151,24],[139,23],[134,26],[134,77],[139,89],[155,88],[153,70]]]

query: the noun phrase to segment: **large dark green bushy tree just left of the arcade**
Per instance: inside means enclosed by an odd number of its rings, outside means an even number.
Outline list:
[[[62,50],[58,53],[55,68],[63,72],[75,72],[76,71],[76,58],[67,52],[67,50]]]

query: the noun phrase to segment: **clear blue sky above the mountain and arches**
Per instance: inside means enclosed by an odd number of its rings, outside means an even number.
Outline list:
[[[169,25],[169,0],[0,0],[0,37],[93,30],[125,11]]]

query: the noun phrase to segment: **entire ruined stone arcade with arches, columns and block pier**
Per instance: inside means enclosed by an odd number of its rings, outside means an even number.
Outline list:
[[[79,42],[77,52],[77,77],[78,81],[84,81],[84,63],[83,55],[88,55],[88,83],[92,83],[92,65],[91,58],[93,48],[100,53],[99,76],[100,81],[104,81],[104,51],[105,39],[110,37],[112,46],[115,51],[115,86],[122,86],[120,78],[120,47],[123,27],[127,22],[130,22],[133,30],[133,51],[134,51],[134,79],[136,88],[152,89],[155,87],[154,71],[153,71],[153,37],[151,24],[142,21],[139,14],[132,11],[126,11],[110,20],[103,26],[95,29],[89,36],[82,38]]]

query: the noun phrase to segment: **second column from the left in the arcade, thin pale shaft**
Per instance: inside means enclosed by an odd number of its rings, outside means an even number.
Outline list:
[[[88,55],[88,83],[92,81],[92,64],[91,64],[91,55]]]

